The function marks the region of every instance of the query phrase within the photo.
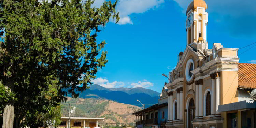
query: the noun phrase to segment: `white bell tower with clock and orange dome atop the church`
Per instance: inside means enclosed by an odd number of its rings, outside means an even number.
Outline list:
[[[207,4],[204,0],[193,0],[186,11],[187,45],[203,51],[208,48],[206,27],[208,14],[205,12]]]

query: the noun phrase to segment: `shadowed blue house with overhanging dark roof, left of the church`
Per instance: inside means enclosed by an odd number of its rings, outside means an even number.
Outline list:
[[[165,128],[168,119],[168,89],[163,87],[158,104],[133,113],[137,128]]]

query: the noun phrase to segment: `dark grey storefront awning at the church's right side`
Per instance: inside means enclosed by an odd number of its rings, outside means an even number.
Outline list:
[[[243,109],[255,109],[256,101],[254,100],[244,100],[235,103],[229,103],[224,105],[219,105],[219,112],[233,111],[233,110],[243,110]]]

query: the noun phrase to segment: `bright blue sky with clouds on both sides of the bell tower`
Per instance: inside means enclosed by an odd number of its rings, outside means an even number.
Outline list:
[[[100,6],[103,0],[95,0]],[[185,11],[191,0],[119,0],[120,22],[109,22],[97,41],[107,42],[109,62],[93,80],[99,85],[143,87],[161,92],[177,55],[186,47]],[[255,0],[205,0],[208,49],[213,43],[241,48],[256,42]],[[254,46],[254,45],[252,45]],[[250,46],[251,47],[251,46]],[[256,63],[256,46],[238,51],[240,62]],[[246,51],[245,53],[243,53]]]

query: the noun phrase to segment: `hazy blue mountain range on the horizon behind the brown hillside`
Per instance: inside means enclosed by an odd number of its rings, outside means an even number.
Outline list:
[[[145,89],[137,88],[105,88],[98,84],[90,85],[90,88],[80,93],[80,98],[98,98],[117,101],[119,103],[134,104],[141,106],[136,100],[145,104],[145,108],[152,104],[158,103],[160,93]]]

